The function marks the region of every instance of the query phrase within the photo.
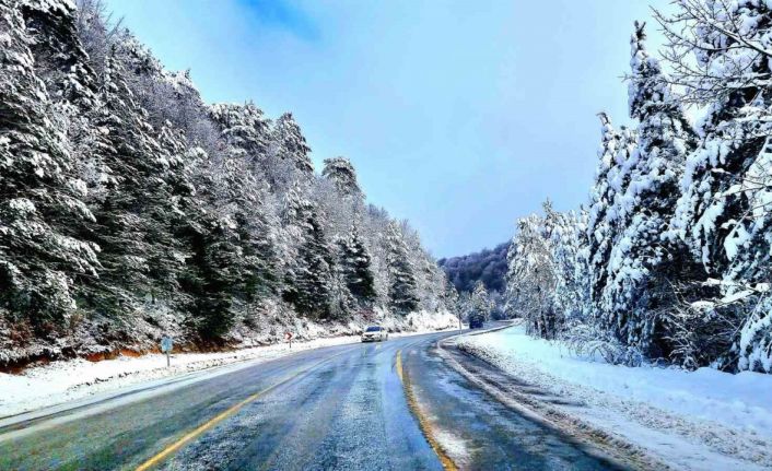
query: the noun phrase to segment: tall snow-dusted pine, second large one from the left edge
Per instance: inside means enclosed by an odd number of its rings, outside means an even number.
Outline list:
[[[133,99],[120,45],[112,47],[101,83],[102,107],[94,125],[106,132],[98,157],[104,199],[94,201],[96,223],[89,239],[102,249],[98,293],[89,297],[103,309],[119,311],[155,291],[168,291],[182,268],[171,232],[175,207],[166,180],[182,165],[180,149],[165,149]]]

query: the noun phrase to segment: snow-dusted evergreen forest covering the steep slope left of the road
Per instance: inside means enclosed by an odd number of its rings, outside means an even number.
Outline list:
[[[417,232],[309,151],[289,113],[204,103],[98,0],[0,0],[0,364],[444,311]]]

